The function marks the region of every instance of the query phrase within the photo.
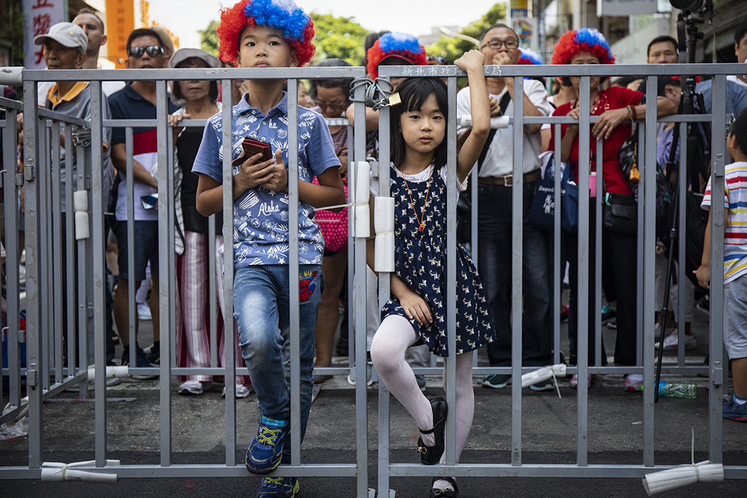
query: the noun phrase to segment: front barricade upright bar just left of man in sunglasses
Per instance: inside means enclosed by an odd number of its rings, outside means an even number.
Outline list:
[[[94,331],[94,363],[96,365],[96,467],[106,464],[106,337],[104,334],[106,320],[105,309],[105,255],[104,255],[104,188],[102,146],[104,134],[102,129],[102,94],[101,81],[91,81],[91,193],[93,222],[90,231],[93,243],[93,331]],[[129,155],[128,155],[129,157]],[[128,169],[128,172],[131,171]],[[78,172],[80,174],[80,172]],[[82,178],[81,178],[82,180]],[[82,282],[81,282],[82,285]],[[81,334],[85,334],[81,329]],[[87,342],[87,341],[84,341]]]

